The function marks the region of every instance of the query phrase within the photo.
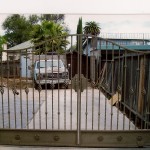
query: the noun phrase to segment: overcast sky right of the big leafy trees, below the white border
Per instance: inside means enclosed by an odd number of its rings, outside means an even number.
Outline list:
[[[66,23],[72,33],[82,17],[83,26],[87,21],[96,21],[102,33],[150,33],[150,15],[66,15]]]

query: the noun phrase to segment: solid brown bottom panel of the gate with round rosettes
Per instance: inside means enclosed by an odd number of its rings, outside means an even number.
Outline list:
[[[76,130],[7,130],[0,129],[0,145],[80,146],[80,147],[149,147],[150,130],[84,131],[77,145]]]

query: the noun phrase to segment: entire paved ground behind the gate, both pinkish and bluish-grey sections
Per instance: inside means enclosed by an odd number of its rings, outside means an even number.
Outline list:
[[[1,128],[4,124],[5,128],[10,125],[10,128],[77,129],[77,93],[73,89],[38,92],[29,88],[28,94],[25,90],[18,92],[14,96],[11,89],[4,88],[4,94],[0,95]],[[81,93],[81,129],[123,128],[135,126],[98,89],[88,88]]]

